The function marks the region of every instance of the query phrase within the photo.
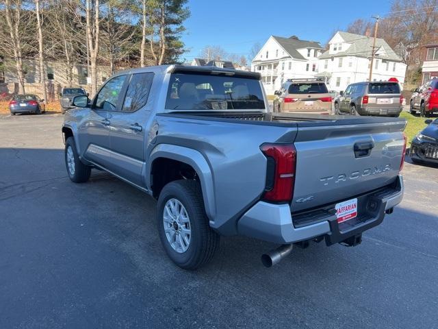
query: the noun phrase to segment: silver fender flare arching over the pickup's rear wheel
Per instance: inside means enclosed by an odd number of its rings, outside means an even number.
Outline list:
[[[196,149],[190,149],[189,147],[183,147],[179,145],[159,144],[155,146],[149,155],[149,162],[146,164],[145,169],[146,186],[149,191],[152,191],[152,164],[157,158],[177,160],[193,167],[201,182],[205,213],[210,221],[214,221],[214,217],[216,215],[216,202],[214,198],[213,175],[207,160],[201,154],[201,152],[196,151]]]

